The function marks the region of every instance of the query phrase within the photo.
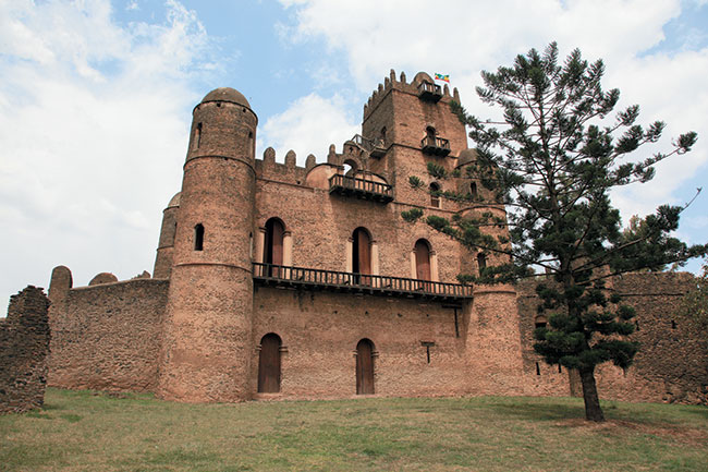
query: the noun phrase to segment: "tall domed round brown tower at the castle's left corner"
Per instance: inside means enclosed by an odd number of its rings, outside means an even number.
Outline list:
[[[163,398],[251,397],[257,123],[233,88],[217,88],[194,108],[163,329]]]

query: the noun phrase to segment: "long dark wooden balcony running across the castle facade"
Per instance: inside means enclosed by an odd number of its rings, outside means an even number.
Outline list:
[[[402,277],[370,276],[335,270],[253,264],[254,283],[260,286],[329,290],[410,299],[462,302],[472,300],[473,287]]]

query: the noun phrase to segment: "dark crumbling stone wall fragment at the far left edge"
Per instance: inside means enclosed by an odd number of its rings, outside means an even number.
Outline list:
[[[49,299],[28,286],[10,298],[0,319],[0,413],[39,408],[47,386]]]

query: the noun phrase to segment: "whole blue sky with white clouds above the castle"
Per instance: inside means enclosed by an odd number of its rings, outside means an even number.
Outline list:
[[[192,109],[213,88],[251,102],[257,156],[304,165],[359,132],[391,69],[450,74],[484,118],[480,71],[553,40],[603,59],[618,109],[667,122],[637,158],[698,132],[651,183],[613,194],[623,218],[689,201],[708,181],[708,0],[0,0],[0,304],[58,265],[74,287],[152,271]],[[678,235],[707,233],[708,187]]]

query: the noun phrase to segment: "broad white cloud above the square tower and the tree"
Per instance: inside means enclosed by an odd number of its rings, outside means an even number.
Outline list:
[[[649,186],[633,185],[617,193],[615,205],[625,218],[646,215],[662,203],[685,202],[692,195],[678,195],[678,191],[696,172],[706,172],[708,49],[691,50],[691,44],[680,51],[661,52],[660,48],[663,27],[681,15],[680,0],[281,3],[296,19],[290,32],[293,40],[324,39],[332,55],[344,53],[359,89],[373,89],[392,66],[405,70],[408,77],[419,70],[449,73],[466,108],[483,118],[493,116],[495,110],[476,99],[474,86],[481,85],[480,70],[508,65],[517,53],[532,47],[542,49],[552,40],[559,43],[561,57],[577,47],[586,59],[602,58],[606,88],[622,90],[621,106],[639,104],[642,123],[668,123],[664,140],[654,150],[667,150],[672,136],[688,130],[700,136],[694,152],[657,166],[657,178]],[[692,8],[705,4],[699,0]],[[649,50],[659,52],[647,55]],[[695,206],[708,205],[699,202]]]

